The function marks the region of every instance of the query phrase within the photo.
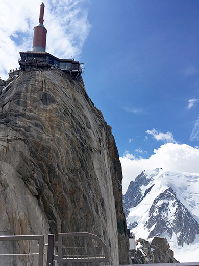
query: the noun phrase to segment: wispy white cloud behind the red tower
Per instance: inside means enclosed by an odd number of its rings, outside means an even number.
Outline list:
[[[17,68],[19,52],[31,50],[33,28],[38,23],[41,0],[0,0],[0,76]],[[90,31],[87,0],[45,0],[46,52],[79,60]]]

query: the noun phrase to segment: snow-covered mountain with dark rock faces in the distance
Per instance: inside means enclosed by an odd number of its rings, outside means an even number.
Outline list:
[[[180,262],[199,261],[199,174],[145,170],[123,196],[137,238],[166,237]]]

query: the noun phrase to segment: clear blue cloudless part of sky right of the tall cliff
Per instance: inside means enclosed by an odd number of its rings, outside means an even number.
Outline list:
[[[197,102],[187,106],[199,92],[198,1],[101,1],[89,8],[84,81],[120,155],[139,148],[151,154],[159,143],[145,131],[153,128],[197,145],[189,140]]]

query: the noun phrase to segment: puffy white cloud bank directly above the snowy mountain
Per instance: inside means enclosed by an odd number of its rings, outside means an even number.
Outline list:
[[[123,173],[123,193],[126,192],[131,180],[145,169],[162,168],[189,173],[199,173],[199,150],[187,144],[167,143],[154,150],[147,159],[136,159],[128,151],[120,157]]]

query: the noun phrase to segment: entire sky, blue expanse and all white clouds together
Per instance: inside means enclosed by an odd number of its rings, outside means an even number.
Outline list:
[[[1,77],[31,49],[40,4],[0,0]],[[199,173],[199,1],[44,4],[46,51],[85,64],[86,90],[112,126],[125,189],[146,167]]]

